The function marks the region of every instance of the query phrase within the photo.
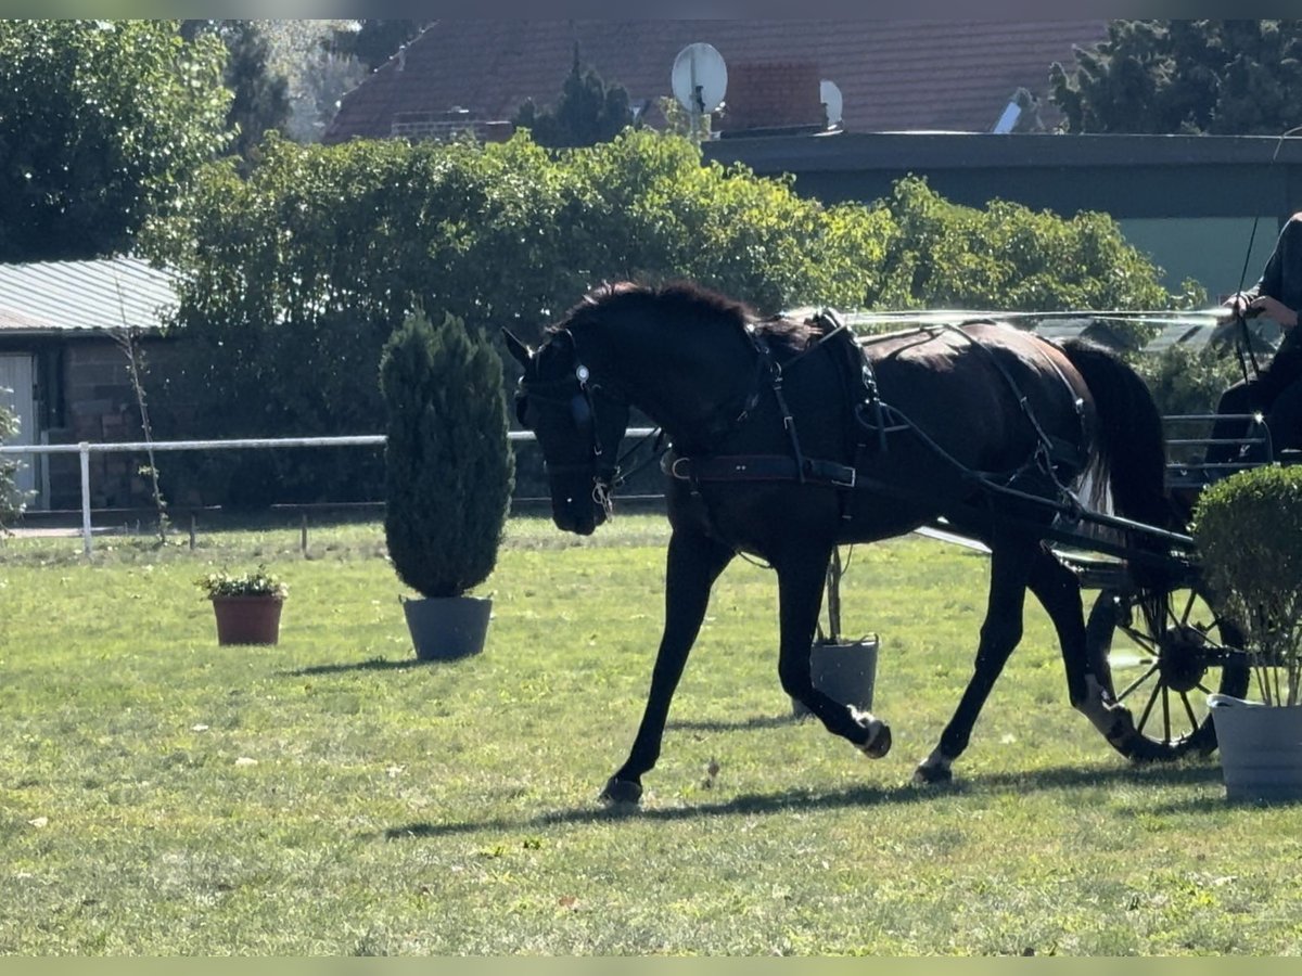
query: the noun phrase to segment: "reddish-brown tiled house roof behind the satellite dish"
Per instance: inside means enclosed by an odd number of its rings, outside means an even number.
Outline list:
[[[654,100],[695,42],[723,55],[738,108],[768,98],[733,83],[756,83],[759,65],[802,79],[812,66],[841,90],[846,131],[990,131],[1018,87],[1051,116],[1049,65],[1105,36],[1107,21],[437,21],[344,98],[326,141],[389,137],[421,113],[501,121],[526,98],[551,104],[575,46],[634,104]]]

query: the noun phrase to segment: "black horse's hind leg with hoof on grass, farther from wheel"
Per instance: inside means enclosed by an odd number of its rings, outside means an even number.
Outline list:
[[[940,734],[940,743],[914,770],[917,783],[948,782],[950,765],[967,748],[973,726],[1009,655],[1022,639],[1022,610],[1026,606],[1027,573],[1039,543],[1016,536],[991,545],[990,596],[980,629],[976,662],[958,708]]]

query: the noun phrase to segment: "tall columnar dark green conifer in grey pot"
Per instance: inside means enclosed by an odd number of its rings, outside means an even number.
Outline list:
[[[417,657],[483,649],[492,600],[469,591],[497,561],[516,463],[501,358],[483,333],[417,312],[380,358],[388,414],[384,536]]]

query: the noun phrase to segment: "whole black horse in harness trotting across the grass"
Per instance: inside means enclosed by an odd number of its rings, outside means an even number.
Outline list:
[[[783,688],[884,756],[889,726],[810,679],[824,574],[837,544],[937,517],[990,547],[991,582],[974,674],[914,778],[950,778],[1021,639],[1027,588],[1053,621],[1072,704],[1126,751],[1134,724],[1087,660],[1079,582],[1044,543],[1073,505],[1115,510],[1122,526],[1169,521],[1161,419],[1107,350],[992,321],[858,344],[825,316],[764,320],[691,285],[629,284],[589,294],[536,351],[506,342],[560,528],[587,535],[608,517],[630,407],[672,444],[664,634],[641,727],[603,799],[639,800],[711,587],[737,553],[777,573]],[[1108,496],[1113,508],[1098,508]]]

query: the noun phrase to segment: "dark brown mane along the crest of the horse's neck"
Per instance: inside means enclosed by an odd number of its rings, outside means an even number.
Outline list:
[[[583,295],[583,299],[565,314],[561,324],[548,331],[559,332],[586,321],[598,321],[603,312],[641,310],[655,311],[671,321],[690,320],[691,328],[700,328],[704,323],[707,327],[713,324],[738,332],[753,329],[793,351],[805,349],[811,340],[822,334],[822,329],[814,321],[780,316],[764,319],[745,302],[690,281],[674,281],[658,288],[631,281],[602,285]]]

